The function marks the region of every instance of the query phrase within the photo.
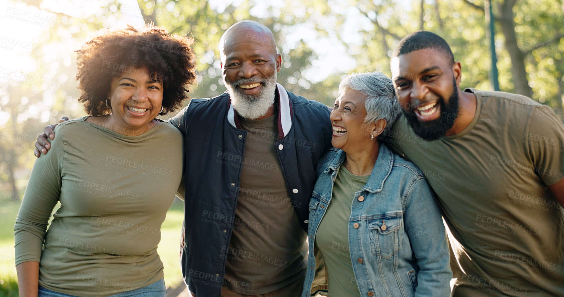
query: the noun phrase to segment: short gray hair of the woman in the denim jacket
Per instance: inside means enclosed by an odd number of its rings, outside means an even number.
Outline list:
[[[387,124],[382,135],[386,135],[402,112],[391,79],[381,72],[353,73],[341,81],[339,92],[342,94],[347,88],[366,95],[364,123],[385,119]]]

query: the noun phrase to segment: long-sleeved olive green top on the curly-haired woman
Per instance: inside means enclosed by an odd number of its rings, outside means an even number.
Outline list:
[[[59,124],[33,165],[14,226],[15,264],[39,261],[39,285],[49,290],[108,296],[164,276],[157,245],[182,178],[183,137],[165,122],[125,136],[86,118]]]

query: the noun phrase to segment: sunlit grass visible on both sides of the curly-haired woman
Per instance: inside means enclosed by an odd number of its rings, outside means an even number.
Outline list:
[[[2,297],[18,296],[14,263],[14,222],[19,209],[18,202],[0,200],[0,296]],[[168,287],[182,284],[179,246],[183,219],[182,201],[175,200],[162,223],[161,242],[157,249],[165,267],[165,283]]]

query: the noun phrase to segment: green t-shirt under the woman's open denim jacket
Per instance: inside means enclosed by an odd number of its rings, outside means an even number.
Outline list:
[[[360,296],[349,251],[349,218],[355,192],[362,190],[369,178],[369,175],[353,175],[345,166],[340,167],[333,184],[331,203],[315,233],[315,245],[327,268],[331,296]]]

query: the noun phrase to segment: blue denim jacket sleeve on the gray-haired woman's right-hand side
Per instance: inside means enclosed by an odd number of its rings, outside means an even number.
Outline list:
[[[450,296],[452,271],[447,236],[439,206],[425,178],[418,179],[409,190],[404,222],[420,268],[415,296]]]

